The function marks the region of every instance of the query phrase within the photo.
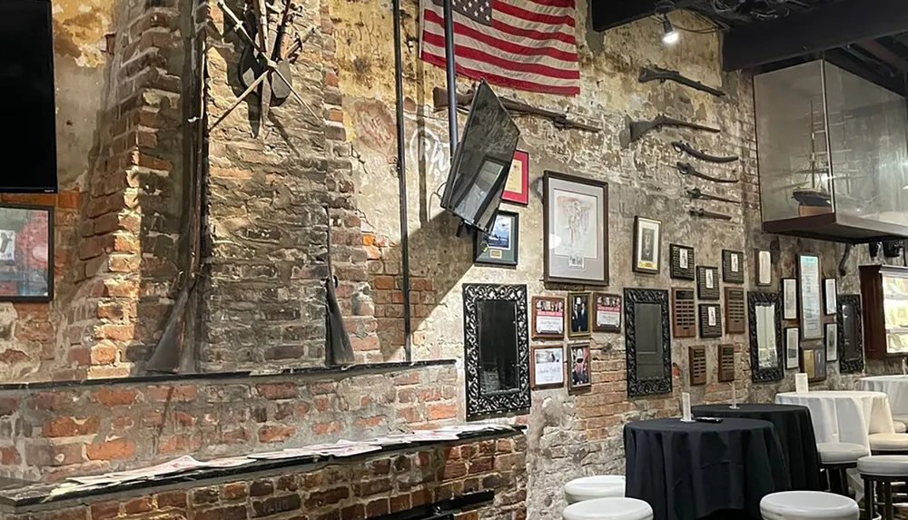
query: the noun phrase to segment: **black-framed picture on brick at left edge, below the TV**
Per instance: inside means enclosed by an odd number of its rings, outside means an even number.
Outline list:
[[[0,301],[54,299],[54,208],[0,204]]]

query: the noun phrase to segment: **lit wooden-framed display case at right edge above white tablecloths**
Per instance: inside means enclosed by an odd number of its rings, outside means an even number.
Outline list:
[[[861,266],[868,358],[908,356],[908,268]]]

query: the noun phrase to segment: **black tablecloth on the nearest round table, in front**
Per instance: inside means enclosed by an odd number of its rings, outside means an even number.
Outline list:
[[[651,505],[654,520],[729,509],[758,519],[765,495],[791,488],[779,437],[766,421],[638,421],[625,426],[624,441],[627,496]]]

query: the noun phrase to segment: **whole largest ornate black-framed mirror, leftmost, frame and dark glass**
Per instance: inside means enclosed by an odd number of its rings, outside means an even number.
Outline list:
[[[526,285],[464,284],[467,417],[529,408]]]

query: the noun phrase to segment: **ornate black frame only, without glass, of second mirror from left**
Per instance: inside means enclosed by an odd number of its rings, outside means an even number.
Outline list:
[[[660,379],[637,377],[637,303],[655,303],[662,308],[662,365]],[[662,289],[625,289],[625,352],[627,355],[627,397],[670,394],[672,392],[672,338],[668,315],[668,291]]]

